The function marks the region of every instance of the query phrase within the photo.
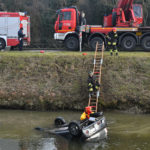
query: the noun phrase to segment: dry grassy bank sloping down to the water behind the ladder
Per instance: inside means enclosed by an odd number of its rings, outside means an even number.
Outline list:
[[[1,52],[0,107],[83,109],[94,53]],[[150,53],[105,53],[100,107],[150,112]]]

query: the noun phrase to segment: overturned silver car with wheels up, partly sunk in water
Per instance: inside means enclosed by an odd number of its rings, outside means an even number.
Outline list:
[[[95,121],[71,121],[66,123],[63,117],[57,117],[54,121],[55,129],[50,133],[89,140],[93,138],[104,139],[107,137],[106,119],[102,113],[96,113]]]

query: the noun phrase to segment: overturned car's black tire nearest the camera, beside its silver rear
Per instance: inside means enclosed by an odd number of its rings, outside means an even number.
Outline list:
[[[69,132],[74,137],[79,137],[81,135],[80,124],[76,121],[70,122],[68,125]]]

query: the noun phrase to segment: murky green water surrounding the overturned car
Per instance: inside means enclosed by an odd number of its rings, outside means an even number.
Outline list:
[[[150,150],[150,115],[105,113],[108,139],[103,141],[70,141],[34,130],[52,126],[57,116],[71,121],[80,113],[0,110],[0,150]]]

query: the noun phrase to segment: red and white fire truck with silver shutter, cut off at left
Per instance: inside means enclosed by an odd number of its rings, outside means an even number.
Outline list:
[[[23,27],[24,46],[30,44],[30,17],[23,12],[0,12],[0,50],[19,44],[18,31]]]

